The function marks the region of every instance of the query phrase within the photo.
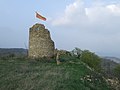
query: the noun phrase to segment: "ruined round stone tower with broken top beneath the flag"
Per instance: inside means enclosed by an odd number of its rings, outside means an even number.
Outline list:
[[[29,52],[31,58],[53,57],[54,42],[51,40],[50,32],[43,24],[35,24],[29,30]]]

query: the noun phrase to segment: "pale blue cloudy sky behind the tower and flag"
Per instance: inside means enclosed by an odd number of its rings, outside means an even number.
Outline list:
[[[58,49],[120,58],[119,0],[0,0],[0,48],[28,48],[35,23],[49,29]]]

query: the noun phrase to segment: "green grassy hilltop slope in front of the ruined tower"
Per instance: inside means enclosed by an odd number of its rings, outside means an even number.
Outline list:
[[[0,60],[0,90],[110,90],[101,75],[75,57]]]

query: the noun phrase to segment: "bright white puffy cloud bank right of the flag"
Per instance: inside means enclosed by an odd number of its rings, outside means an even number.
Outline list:
[[[94,2],[95,3],[95,2]],[[119,4],[93,4],[90,7],[85,7],[85,2],[76,0],[74,3],[66,6],[62,16],[54,19],[52,25],[54,26],[71,26],[86,24],[107,24],[110,20],[120,18]],[[115,21],[116,22],[116,21]]]

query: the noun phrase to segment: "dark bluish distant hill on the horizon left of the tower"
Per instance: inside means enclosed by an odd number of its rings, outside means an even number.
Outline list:
[[[0,48],[0,57],[5,56],[26,56],[27,55],[27,49],[23,48]]]

